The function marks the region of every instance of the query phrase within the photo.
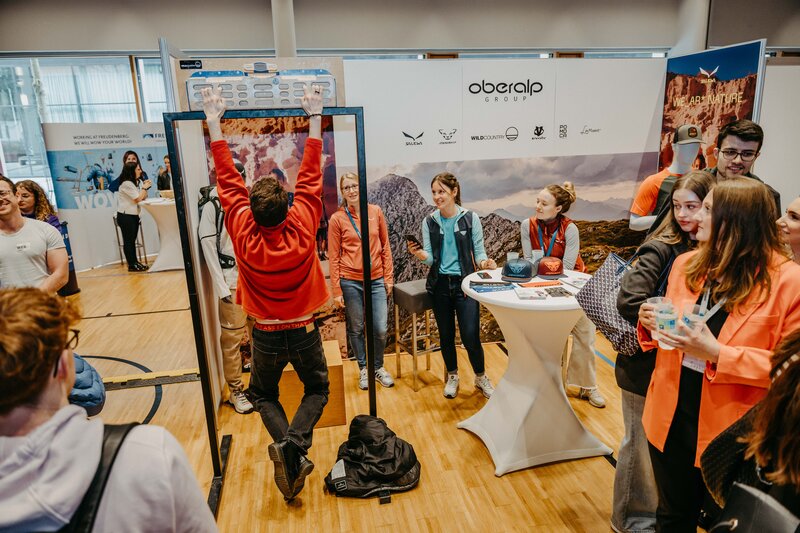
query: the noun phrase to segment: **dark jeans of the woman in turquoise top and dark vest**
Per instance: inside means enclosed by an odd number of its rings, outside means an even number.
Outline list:
[[[475,374],[483,374],[483,345],[481,345],[480,304],[461,290],[461,276],[439,274],[433,288],[433,316],[439,328],[442,358],[448,372],[458,371],[456,357],[456,317],[461,342],[469,354]]]

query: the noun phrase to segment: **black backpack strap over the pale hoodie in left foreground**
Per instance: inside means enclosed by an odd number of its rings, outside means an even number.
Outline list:
[[[94,473],[92,483],[83,496],[78,510],[72,515],[69,524],[59,531],[67,533],[90,532],[94,527],[97,518],[97,510],[100,508],[100,500],[103,498],[103,491],[111,474],[111,467],[117,458],[122,442],[131,429],[138,426],[138,422],[130,424],[109,425],[103,427],[103,448],[100,451],[100,462],[97,471]]]

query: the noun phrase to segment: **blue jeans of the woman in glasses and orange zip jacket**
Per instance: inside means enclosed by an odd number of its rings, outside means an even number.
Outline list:
[[[367,351],[364,341],[364,282],[351,279],[339,280],[347,314],[347,342],[353,348],[358,368],[367,366]],[[389,309],[386,303],[386,285],[383,278],[372,280],[372,327],[375,346],[375,370],[383,366],[383,351],[386,349],[386,321]]]

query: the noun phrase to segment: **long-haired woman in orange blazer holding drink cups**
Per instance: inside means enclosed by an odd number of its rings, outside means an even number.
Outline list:
[[[657,531],[691,531],[705,497],[700,455],[766,394],[770,355],[800,327],[800,266],[786,257],[768,189],[748,178],[717,184],[703,201],[698,249],[679,256],[666,296],[680,313],[707,302],[706,321],[659,332],[642,424],[659,502]],[[707,295],[707,296],[706,296]],[[704,298],[705,297],[705,298]],[[639,311],[642,349],[655,346],[653,308]]]

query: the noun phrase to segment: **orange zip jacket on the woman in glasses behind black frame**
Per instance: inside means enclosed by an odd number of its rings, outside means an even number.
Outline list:
[[[330,266],[331,288],[334,296],[342,295],[339,279],[361,281],[364,265],[361,258],[361,238],[353,228],[353,223],[340,208],[328,223],[328,265]],[[377,205],[368,204],[369,213],[369,256],[370,279],[383,278],[387,285],[394,285],[392,250],[389,247],[389,230],[383,211]],[[359,215],[350,210],[353,220],[361,231]]]

